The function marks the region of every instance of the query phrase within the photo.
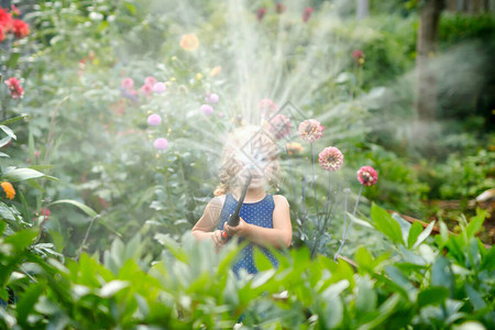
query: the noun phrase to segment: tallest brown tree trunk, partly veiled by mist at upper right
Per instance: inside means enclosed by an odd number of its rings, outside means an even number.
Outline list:
[[[437,76],[432,59],[437,51],[438,22],[443,8],[442,0],[426,0],[420,10],[418,41],[416,45],[415,138],[429,141],[430,123],[437,109]]]

